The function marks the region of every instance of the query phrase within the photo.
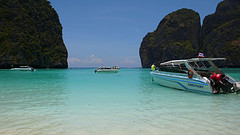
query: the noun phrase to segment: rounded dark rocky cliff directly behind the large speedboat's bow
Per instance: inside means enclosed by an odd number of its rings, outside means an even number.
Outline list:
[[[148,33],[139,49],[142,67],[172,59],[196,56],[200,36],[199,14],[190,9],[180,9],[166,17],[157,29]]]

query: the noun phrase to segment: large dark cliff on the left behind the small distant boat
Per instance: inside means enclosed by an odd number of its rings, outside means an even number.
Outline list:
[[[56,11],[47,0],[0,1],[0,68],[67,68]]]

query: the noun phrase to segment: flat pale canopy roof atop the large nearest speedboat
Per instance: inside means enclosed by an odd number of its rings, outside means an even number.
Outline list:
[[[171,61],[163,62],[160,65],[169,65],[169,64],[180,65],[180,64],[183,64],[184,62],[217,61],[217,60],[226,60],[226,58],[192,58],[192,59],[185,59],[185,60],[171,60]]]

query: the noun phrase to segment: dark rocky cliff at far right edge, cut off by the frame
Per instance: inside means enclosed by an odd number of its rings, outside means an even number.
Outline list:
[[[201,46],[208,57],[227,58],[226,66],[240,67],[240,1],[225,0],[204,18]]]

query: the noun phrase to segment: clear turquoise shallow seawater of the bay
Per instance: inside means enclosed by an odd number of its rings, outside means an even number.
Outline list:
[[[224,69],[240,80],[240,69]],[[240,95],[159,86],[148,69],[0,70],[1,135],[238,135]]]

